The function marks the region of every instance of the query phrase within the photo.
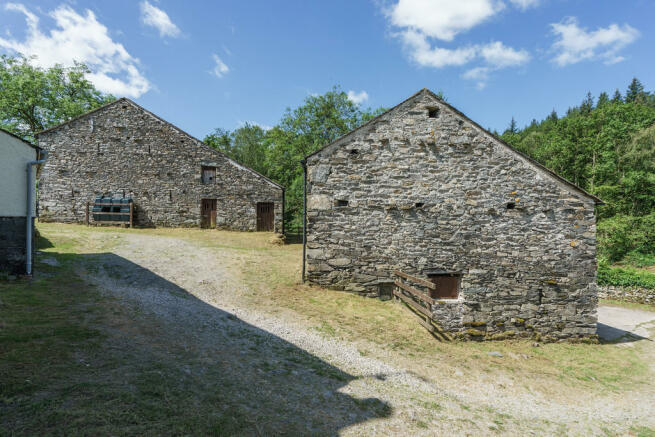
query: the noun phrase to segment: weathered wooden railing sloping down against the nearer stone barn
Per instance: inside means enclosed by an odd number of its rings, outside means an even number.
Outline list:
[[[394,275],[398,277],[394,281],[396,288],[393,295],[397,300],[402,301],[414,314],[419,317],[419,323],[427,329],[434,337],[439,340],[451,340],[450,335],[446,333],[434,320],[432,306],[437,302],[428,293],[429,291],[420,290],[422,287],[427,290],[434,290],[436,286],[425,279],[408,275],[399,270],[394,270]]]

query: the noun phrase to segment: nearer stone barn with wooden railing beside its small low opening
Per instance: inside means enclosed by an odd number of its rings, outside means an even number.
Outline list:
[[[431,91],[304,162],[309,281],[390,295],[411,275],[456,337],[596,333],[600,200]]]

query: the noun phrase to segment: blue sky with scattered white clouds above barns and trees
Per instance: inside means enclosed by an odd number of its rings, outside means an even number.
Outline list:
[[[197,137],[277,123],[333,85],[364,107],[421,88],[502,131],[637,76],[655,87],[652,0],[66,1],[0,3],[0,52],[87,63]]]

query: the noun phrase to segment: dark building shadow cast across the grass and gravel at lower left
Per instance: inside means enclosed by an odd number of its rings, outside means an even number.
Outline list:
[[[337,435],[391,415],[379,399],[343,393],[355,376],[125,258],[46,252],[37,260],[35,292],[54,293],[49,284],[77,275],[95,286],[85,285],[95,297],[84,305],[100,314],[79,323],[92,323],[102,340],[75,346],[74,359],[52,357],[58,371],[31,394],[45,397],[48,411],[26,413],[33,399],[12,407],[3,393],[10,433]]]

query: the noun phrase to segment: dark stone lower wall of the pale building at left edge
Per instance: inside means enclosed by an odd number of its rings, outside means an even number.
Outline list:
[[[26,225],[25,217],[0,217],[0,272],[12,275],[26,273]],[[34,238],[32,242],[34,243]],[[34,254],[34,244],[32,244],[32,254]]]

